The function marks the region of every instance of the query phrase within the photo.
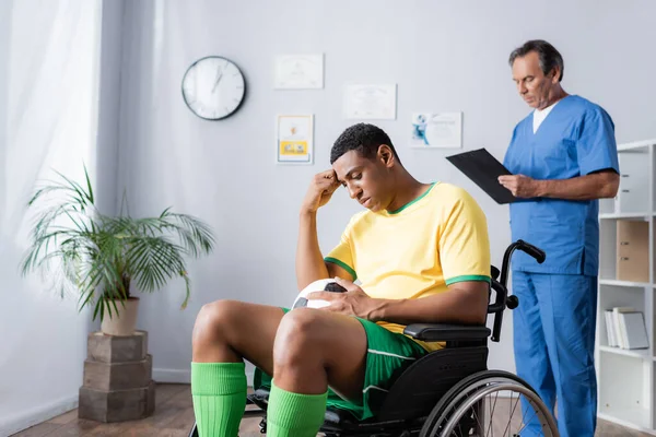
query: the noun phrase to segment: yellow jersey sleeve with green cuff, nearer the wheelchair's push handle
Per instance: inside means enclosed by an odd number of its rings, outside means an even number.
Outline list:
[[[490,282],[488,221],[479,204],[465,190],[446,217],[438,241],[446,285],[464,281]]]

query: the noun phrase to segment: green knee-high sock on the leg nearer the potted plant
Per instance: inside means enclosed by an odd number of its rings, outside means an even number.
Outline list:
[[[244,363],[191,363],[191,398],[200,437],[235,437],[246,409]]]

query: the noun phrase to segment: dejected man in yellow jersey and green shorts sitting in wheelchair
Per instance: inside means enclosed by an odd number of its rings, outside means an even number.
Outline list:
[[[237,435],[244,359],[258,367],[256,388],[271,388],[268,435],[315,436],[327,405],[358,420],[375,415],[393,377],[438,347],[403,335],[406,324],[485,322],[490,244],[476,201],[455,186],[415,180],[389,137],[372,125],[348,128],[330,162],[301,208],[296,279],[302,290],[338,277],[348,292],[312,296],[330,300],[321,309],[232,300],[203,306],[191,363],[201,437]],[[366,210],[324,257],[317,210],[340,186]]]

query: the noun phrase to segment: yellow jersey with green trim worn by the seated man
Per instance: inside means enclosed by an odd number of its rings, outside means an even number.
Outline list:
[[[433,184],[394,211],[355,214],[325,258],[345,269],[374,298],[418,299],[462,281],[490,281],[485,214],[462,188]],[[403,326],[378,324],[393,332]],[[440,343],[421,343],[427,350]]]

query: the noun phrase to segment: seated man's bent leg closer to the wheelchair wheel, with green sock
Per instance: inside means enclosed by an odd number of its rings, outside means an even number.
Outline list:
[[[315,436],[324,422],[328,385],[362,399],[367,340],[352,317],[300,308],[286,314],[273,346],[268,435]]]

